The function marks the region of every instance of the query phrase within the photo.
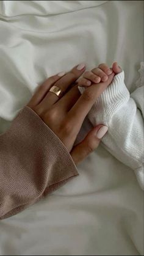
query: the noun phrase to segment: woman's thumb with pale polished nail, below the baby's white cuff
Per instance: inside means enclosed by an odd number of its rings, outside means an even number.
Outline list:
[[[106,134],[107,130],[107,126],[98,125],[87,134],[82,142],[73,147],[70,154],[75,164],[78,164],[84,160],[98,147],[102,137],[104,134]]]

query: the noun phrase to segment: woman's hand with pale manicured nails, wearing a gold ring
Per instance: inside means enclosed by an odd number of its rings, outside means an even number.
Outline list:
[[[60,138],[76,164],[98,147],[101,137],[107,131],[106,126],[98,125],[87,134],[84,141],[73,147],[86,115],[99,95],[107,88],[109,79],[114,76],[112,73],[106,82],[97,85],[92,84],[81,95],[75,82],[84,71],[85,66],[81,64],[65,75],[60,73],[51,76],[38,87],[31,101],[27,104]],[[49,92],[52,86],[57,86],[63,90],[61,98],[53,92]]]

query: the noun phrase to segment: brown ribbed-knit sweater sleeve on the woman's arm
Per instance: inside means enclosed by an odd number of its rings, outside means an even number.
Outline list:
[[[0,219],[24,210],[76,175],[59,137],[24,107],[0,136]]]

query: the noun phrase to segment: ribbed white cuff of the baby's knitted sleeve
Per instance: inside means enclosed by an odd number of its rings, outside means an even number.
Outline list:
[[[84,87],[79,87],[79,91],[83,93]],[[129,91],[124,84],[124,71],[115,75],[111,84],[98,97],[93,108],[88,113],[88,118],[93,123],[101,123],[105,121],[107,124],[115,112],[128,102],[130,97]]]

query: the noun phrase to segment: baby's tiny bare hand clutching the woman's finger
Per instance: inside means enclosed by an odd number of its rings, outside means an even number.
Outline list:
[[[112,72],[116,74],[120,73],[122,70],[118,66],[117,62],[112,64],[112,68],[109,68],[107,64],[100,64],[97,68],[93,68],[91,71],[86,71],[81,79],[79,79],[79,86],[91,86],[92,82],[94,84],[99,84],[99,82],[106,82],[109,75]],[[112,81],[110,81],[111,83]]]

